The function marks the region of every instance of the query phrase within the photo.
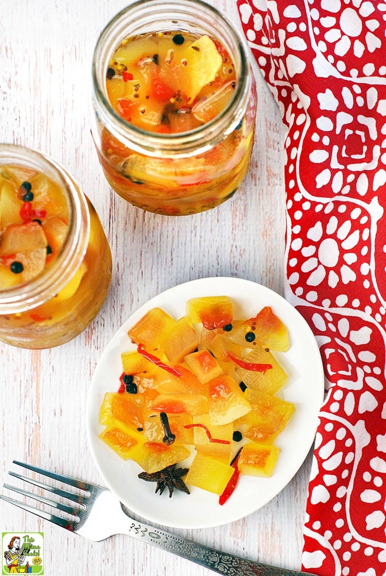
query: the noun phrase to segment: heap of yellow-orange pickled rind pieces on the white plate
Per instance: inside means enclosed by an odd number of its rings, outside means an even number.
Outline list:
[[[210,328],[203,323],[207,319]],[[128,336],[138,350],[145,342],[161,364],[154,366],[135,350],[122,353],[123,371],[133,378],[137,393],[123,389],[105,396],[101,423],[109,427],[118,422],[118,436],[122,426],[141,435],[131,458],[145,472],[193,456],[186,484],[222,494],[234,470],[230,462],[241,447],[241,474],[266,478],[273,474],[280,453],[275,441],[295,406],[276,396],[287,381],[280,355],[260,346],[260,340],[279,349],[289,345],[285,325],[269,306],[251,319],[239,320],[229,297],[191,298],[185,317],[175,320],[153,308]],[[192,346],[197,349],[191,351]],[[119,396],[128,400],[120,402]],[[176,437],[171,445],[164,442],[162,413]],[[126,457],[122,447],[112,447]]]

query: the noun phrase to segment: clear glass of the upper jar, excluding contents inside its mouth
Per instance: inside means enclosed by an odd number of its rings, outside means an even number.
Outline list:
[[[106,77],[118,46],[136,35],[187,31],[226,48],[236,87],[225,108],[194,130],[162,134],[124,120],[107,96]],[[93,58],[92,135],[113,190],[154,213],[185,215],[230,198],[249,168],[256,116],[256,86],[243,36],[200,0],[146,0],[122,10],[97,42]]]

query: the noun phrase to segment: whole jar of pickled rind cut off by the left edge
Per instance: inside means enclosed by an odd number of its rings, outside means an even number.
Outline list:
[[[0,341],[51,348],[99,312],[111,252],[89,199],[62,166],[0,145]]]

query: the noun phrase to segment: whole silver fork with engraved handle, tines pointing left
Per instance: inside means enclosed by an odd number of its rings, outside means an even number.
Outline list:
[[[51,484],[39,482],[39,480],[21,476],[16,472],[10,471],[9,474],[14,476],[14,478],[43,488],[59,497],[67,498],[75,503],[76,506],[63,504],[51,498],[44,498],[43,496],[22,490],[22,488],[10,486],[9,484],[4,484],[4,487],[18,494],[33,498],[45,505],[52,506],[56,508],[56,510],[65,513],[66,516],[56,516],[55,514],[37,509],[27,503],[8,498],[1,494],[0,498],[94,542],[105,540],[115,534],[126,534],[133,536],[137,540],[142,540],[147,544],[152,544],[158,548],[173,552],[173,554],[177,556],[205,566],[209,570],[213,570],[223,576],[234,576],[236,574],[237,576],[300,576],[304,574],[297,570],[287,570],[260,562],[253,562],[253,560],[247,560],[240,556],[214,550],[214,548],[203,546],[192,540],[184,540],[171,533],[164,532],[164,530],[160,530],[156,528],[156,526],[143,524],[143,522],[138,522],[130,518],[130,516],[123,511],[118,498],[107,490],[107,488],[89,482],[82,482],[82,480],[76,480],[70,478],[70,476],[50,472],[49,470],[37,468],[36,466],[31,466],[30,464],[25,464],[17,460],[14,460],[13,463],[43,476],[48,476],[48,478],[58,480],[63,484],[73,486],[77,488],[77,490],[81,490],[82,493],[69,492],[62,488],[51,486]],[[308,576],[315,575],[308,574]]]

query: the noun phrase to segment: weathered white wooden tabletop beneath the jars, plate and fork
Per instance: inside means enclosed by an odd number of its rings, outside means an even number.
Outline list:
[[[213,2],[239,23],[235,2]],[[90,65],[101,29],[125,5],[125,0],[1,0],[0,141],[43,151],[73,174],[100,215],[113,255],[107,301],[84,334],[46,351],[0,344],[1,484],[9,481],[13,458],[101,482],[86,442],[90,378],[116,329],[149,298],[203,276],[240,276],[283,293],[285,134],[258,71],[251,169],[231,200],[203,214],[161,217],[134,209],[106,183],[90,136]],[[298,569],[310,466],[309,455],[285,490],[248,518],[175,533]],[[47,576],[210,574],[129,537],[83,541],[3,501],[0,527],[44,532]]]

